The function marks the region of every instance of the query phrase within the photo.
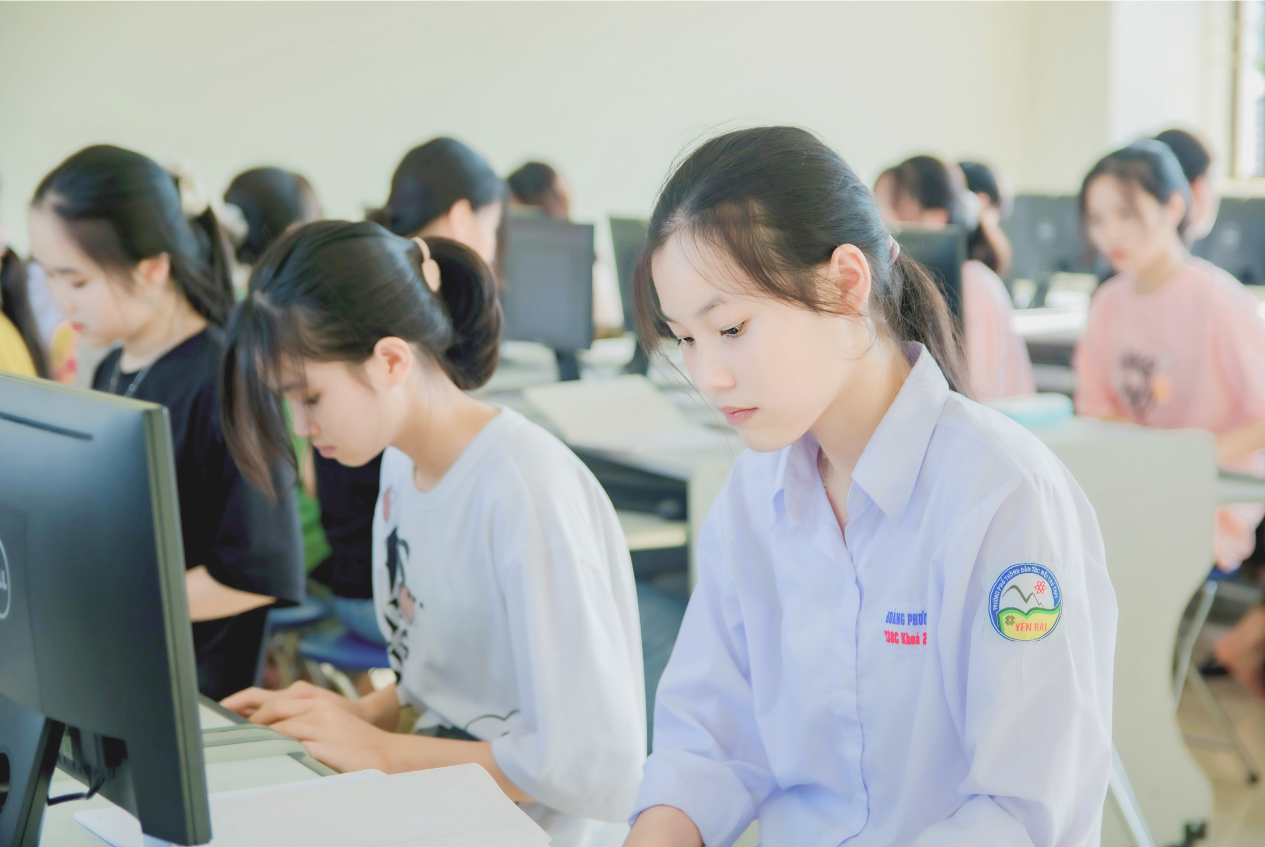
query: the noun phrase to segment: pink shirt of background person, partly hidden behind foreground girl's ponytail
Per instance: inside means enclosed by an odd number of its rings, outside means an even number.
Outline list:
[[[1027,344],[1011,328],[1013,310],[1006,284],[992,268],[974,258],[961,266],[966,371],[979,401],[1036,391]]]

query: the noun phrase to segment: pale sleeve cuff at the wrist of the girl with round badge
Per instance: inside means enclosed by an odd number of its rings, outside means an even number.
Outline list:
[[[646,760],[644,774],[630,823],[653,805],[669,805],[694,822],[705,844],[729,844],[755,819],[751,794],[724,762],[665,750]]]

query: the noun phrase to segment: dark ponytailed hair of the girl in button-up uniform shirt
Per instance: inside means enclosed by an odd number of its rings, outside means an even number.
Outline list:
[[[927,272],[901,254],[874,195],[848,162],[796,127],[740,129],[705,142],[668,179],[638,254],[638,323],[648,352],[668,334],[651,258],[677,233],[719,248],[762,294],[821,313],[839,311],[817,270],[840,244],[870,266],[870,313],[896,342],[918,342],[953,390],[966,392],[965,367],[949,308]]]

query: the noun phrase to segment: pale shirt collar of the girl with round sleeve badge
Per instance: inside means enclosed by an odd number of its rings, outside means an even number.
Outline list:
[[[913,367],[853,471],[853,482],[892,520],[901,519],[913,496],[922,457],[949,399],[949,382],[927,348],[910,343],[904,352]],[[801,523],[811,493],[821,485],[817,449],[817,439],[808,432],[783,449],[778,460],[773,498],[775,501],[782,495],[796,523]]]

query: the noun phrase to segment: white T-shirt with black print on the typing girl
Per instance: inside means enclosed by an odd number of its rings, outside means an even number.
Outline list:
[[[373,596],[419,729],[492,742],[554,847],[622,843],[645,760],[636,589],[574,453],[501,409],[423,493],[387,448]]]

